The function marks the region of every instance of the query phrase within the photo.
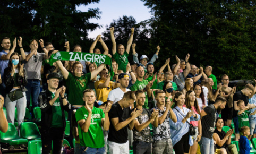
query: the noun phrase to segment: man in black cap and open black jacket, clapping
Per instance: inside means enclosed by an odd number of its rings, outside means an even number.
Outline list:
[[[50,73],[47,76],[48,89],[39,95],[41,116],[42,153],[61,153],[65,135],[66,119],[64,110],[69,112],[71,105],[67,101],[66,88],[58,88],[59,75]]]

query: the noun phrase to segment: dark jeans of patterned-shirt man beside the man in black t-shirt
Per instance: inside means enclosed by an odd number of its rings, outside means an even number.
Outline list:
[[[132,149],[133,153],[147,153],[151,154],[153,151],[153,146],[152,143],[147,143],[147,142],[141,142],[141,141],[133,141],[132,143]]]

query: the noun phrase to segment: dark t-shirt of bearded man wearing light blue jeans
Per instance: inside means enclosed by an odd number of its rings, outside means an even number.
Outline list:
[[[202,117],[202,137],[212,139],[216,122],[216,109],[214,105],[211,104],[203,110],[207,115]]]

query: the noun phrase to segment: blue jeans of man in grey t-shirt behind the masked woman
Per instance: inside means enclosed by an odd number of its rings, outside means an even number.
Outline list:
[[[30,96],[32,98],[32,118],[35,118],[33,114],[33,109],[38,106],[38,97],[40,93],[40,80],[37,79],[28,79],[28,84],[25,86],[28,91],[26,91],[27,96],[27,108],[29,108],[30,105]]]

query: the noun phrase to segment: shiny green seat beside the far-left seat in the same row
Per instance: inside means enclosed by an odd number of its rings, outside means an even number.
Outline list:
[[[20,125],[20,136],[23,139],[31,140],[41,140],[41,135],[39,133],[38,127],[35,123],[25,122]]]

